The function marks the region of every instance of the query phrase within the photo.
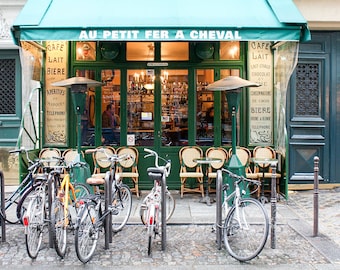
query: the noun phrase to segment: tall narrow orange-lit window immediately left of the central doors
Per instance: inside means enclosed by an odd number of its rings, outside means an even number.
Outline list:
[[[104,145],[120,143],[120,70],[101,71],[102,86],[102,142]]]

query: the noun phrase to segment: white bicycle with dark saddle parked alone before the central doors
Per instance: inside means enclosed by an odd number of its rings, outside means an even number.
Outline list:
[[[170,194],[166,183],[163,182],[163,176],[165,176],[164,180],[166,180],[166,177],[169,176],[170,170],[171,170],[171,161],[166,160],[162,157],[159,157],[157,152],[144,148],[144,151],[149,153],[144,156],[144,158],[154,156],[155,157],[155,167],[150,167],[147,169],[148,176],[150,179],[154,182],[154,186],[151,189],[151,192],[144,198],[141,208],[140,208],[140,216],[141,220],[144,225],[147,226],[147,234],[148,234],[148,255],[151,255],[152,250],[152,238],[156,237],[156,235],[159,234],[159,228],[162,224],[162,221],[165,223],[171,218],[172,214],[175,211],[176,202],[175,199]],[[159,166],[158,162],[159,160],[163,160],[165,162],[164,166]],[[162,185],[165,184],[165,199],[162,200]],[[165,206],[165,207],[164,207]],[[165,214],[165,219],[162,221],[160,220],[160,210],[164,207],[165,211],[161,211],[161,213]],[[164,228],[162,228],[162,233],[165,234]],[[162,235],[162,244],[163,249],[165,248],[165,237],[163,238]]]

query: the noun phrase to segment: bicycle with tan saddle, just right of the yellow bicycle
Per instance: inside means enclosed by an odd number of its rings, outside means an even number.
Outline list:
[[[126,184],[122,183],[115,173],[116,163],[129,159],[131,156],[127,154],[108,154],[105,148],[88,149],[85,153],[95,151],[103,152],[106,156],[106,161],[110,161],[111,165],[110,171],[105,174],[105,179],[87,179],[87,183],[96,187],[96,192],[80,201],[81,208],[77,216],[75,230],[75,249],[78,259],[83,263],[91,260],[102,228],[105,228],[107,240],[110,234],[109,227],[113,232],[120,231],[126,225],[132,208],[131,190]],[[110,191],[111,184],[110,194],[108,191]],[[104,185],[105,198],[102,196],[99,185]],[[110,195],[112,195],[112,199]]]

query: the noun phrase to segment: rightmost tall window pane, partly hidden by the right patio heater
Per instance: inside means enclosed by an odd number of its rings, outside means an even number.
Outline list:
[[[238,69],[222,69],[220,71],[221,79],[228,76],[240,76],[240,71]],[[228,101],[225,92],[222,92],[222,106],[221,106],[221,131],[222,131],[222,144],[231,145],[231,113],[229,112]],[[237,129],[237,142],[239,142],[239,129],[240,129],[240,110],[238,110],[236,115],[236,129]],[[237,143],[238,144],[238,143]]]

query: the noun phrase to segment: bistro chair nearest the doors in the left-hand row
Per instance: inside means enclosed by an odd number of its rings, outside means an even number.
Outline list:
[[[132,192],[135,192],[137,197],[139,198],[139,187],[138,187],[138,181],[139,181],[139,173],[138,173],[138,150],[135,147],[119,147],[117,149],[117,154],[130,154],[132,158],[125,159],[117,164],[117,175],[124,179],[124,178],[130,178],[133,182],[133,188],[131,188]]]

